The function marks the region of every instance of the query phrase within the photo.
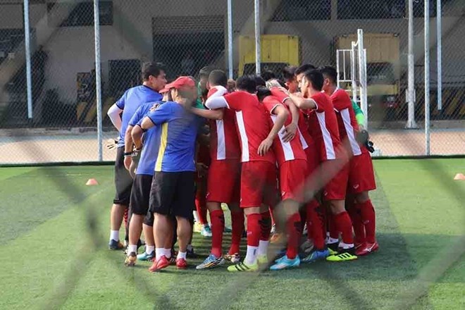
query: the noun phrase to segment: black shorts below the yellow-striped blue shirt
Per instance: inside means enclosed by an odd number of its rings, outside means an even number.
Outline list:
[[[151,182],[150,211],[192,218],[195,209],[194,172],[155,172]]]

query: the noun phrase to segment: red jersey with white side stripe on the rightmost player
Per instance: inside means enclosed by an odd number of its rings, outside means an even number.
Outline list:
[[[336,111],[337,125],[339,128],[340,140],[348,152],[354,156],[359,156],[365,148],[361,148],[355,137],[359,132],[359,124],[355,118],[352,100],[344,89],[337,88],[331,94],[331,100]]]

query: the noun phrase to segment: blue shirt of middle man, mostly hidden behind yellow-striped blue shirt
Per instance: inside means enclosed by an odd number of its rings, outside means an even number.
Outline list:
[[[163,104],[163,101],[156,102]],[[140,125],[144,116],[149,113],[151,107],[154,106],[153,102],[142,104],[134,116],[129,121],[129,125],[134,127]],[[137,165],[136,175],[154,175],[156,157],[159,154],[161,127],[155,126],[144,133],[144,146],[140,154],[139,164]]]

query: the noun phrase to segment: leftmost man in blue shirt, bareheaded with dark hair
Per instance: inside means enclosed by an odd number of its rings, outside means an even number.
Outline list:
[[[111,207],[109,249],[123,249],[123,244],[119,241],[119,230],[123,221],[124,211],[129,205],[132,187],[132,178],[124,166],[125,132],[130,119],[139,106],[161,100],[162,97],[159,94],[159,90],[163,89],[166,85],[166,74],[163,64],[144,63],[142,79],[144,80],[142,85],[128,89],[108,111],[111,122],[120,133],[115,161],[116,195]]]

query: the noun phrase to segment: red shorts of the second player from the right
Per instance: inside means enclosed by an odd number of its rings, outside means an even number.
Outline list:
[[[343,165],[345,160],[335,159],[323,162],[322,173],[334,175],[334,177],[326,183],[323,190],[323,199],[328,200],[344,200],[347,193],[347,180],[349,179],[349,164]]]

